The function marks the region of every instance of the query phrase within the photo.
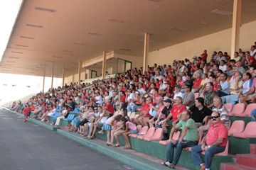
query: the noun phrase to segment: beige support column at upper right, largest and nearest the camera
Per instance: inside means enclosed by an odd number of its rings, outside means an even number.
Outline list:
[[[232,35],[231,35],[231,54],[230,54],[230,56],[232,57],[234,56],[234,53],[239,49],[241,10],[242,10],[242,0],[234,0]]]

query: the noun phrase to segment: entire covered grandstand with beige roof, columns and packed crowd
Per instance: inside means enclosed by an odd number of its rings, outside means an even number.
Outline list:
[[[255,8],[23,0],[0,72],[42,77],[43,86],[1,112],[133,169],[256,169]]]

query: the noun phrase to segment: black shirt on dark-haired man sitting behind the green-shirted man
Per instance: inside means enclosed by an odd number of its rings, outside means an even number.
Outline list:
[[[206,106],[203,106],[201,110],[199,110],[196,106],[192,106],[189,108],[189,110],[192,113],[191,118],[195,120],[196,123],[203,123],[203,119],[206,117],[206,115],[211,115],[211,113],[213,113],[213,111]]]

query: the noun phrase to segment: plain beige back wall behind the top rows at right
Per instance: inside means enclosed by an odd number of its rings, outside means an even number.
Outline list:
[[[240,28],[240,48],[250,50],[256,40],[256,21],[243,24]],[[192,59],[199,56],[203,50],[208,50],[208,58],[213,51],[222,50],[230,55],[231,28],[218,33],[203,36],[193,40],[179,43],[170,47],[149,52],[149,66],[157,64],[171,64],[174,60]],[[230,55],[231,57],[233,55]]]

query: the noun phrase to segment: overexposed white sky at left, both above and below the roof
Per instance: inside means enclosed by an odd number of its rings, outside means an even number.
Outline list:
[[[0,1],[0,62],[9,42],[12,28],[16,21],[22,0]],[[0,63],[1,64],[1,63]],[[48,91],[51,78],[46,77],[45,91]],[[53,86],[61,86],[62,79],[53,79]],[[37,94],[43,89],[43,77],[33,77],[0,72],[0,104],[14,101],[31,94]]]

